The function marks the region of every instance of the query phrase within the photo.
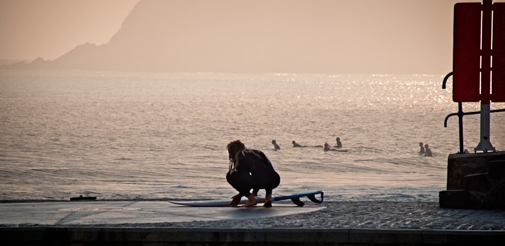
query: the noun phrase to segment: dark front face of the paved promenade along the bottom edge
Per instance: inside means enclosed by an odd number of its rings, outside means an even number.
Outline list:
[[[502,245],[505,231],[295,228],[0,228],[2,245]]]

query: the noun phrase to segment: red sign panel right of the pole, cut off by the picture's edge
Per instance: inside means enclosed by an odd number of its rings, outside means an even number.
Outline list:
[[[491,101],[505,102],[505,3],[493,4]]]

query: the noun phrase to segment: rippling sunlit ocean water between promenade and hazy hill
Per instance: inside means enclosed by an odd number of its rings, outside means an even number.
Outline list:
[[[226,145],[239,139],[272,161],[275,194],[438,201],[447,156],[459,151],[458,118],[443,127],[458,109],[443,77],[1,71],[0,200],[231,198]],[[473,150],[480,116],[464,127]],[[492,113],[497,150],[503,129],[505,113]],[[336,137],[347,152],[291,144]]]

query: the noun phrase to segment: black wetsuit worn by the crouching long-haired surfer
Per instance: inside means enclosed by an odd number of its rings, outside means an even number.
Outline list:
[[[254,153],[242,151],[238,154],[237,170],[232,174],[228,172],[226,180],[241,196],[248,197],[251,189],[254,193],[265,189],[266,194],[272,194],[281,178],[263,152],[251,151]]]

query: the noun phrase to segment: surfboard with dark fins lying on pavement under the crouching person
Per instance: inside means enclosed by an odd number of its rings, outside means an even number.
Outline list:
[[[320,200],[316,199],[316,195],[321,195],[321,199]],[[318,192],[312,192],[312,193],[292,194],[289,196],[275,194],[275,195],[272,195],[272,202],[291,199],[291,201],[293,201],[296,205],[301,207],[301,206],[305,205],[304,202],[301,202],[299,200],[299,198],[302,198],[302,197],[307,197],[312,202],[321,204],[321,203],[323,203],[324,193],[322,191],[318,191]],[[265,198],[258,197],[256,199],[258,200],[258,203],[265,203]],[[230,199],[219,199],[219,200],[168,201],[168,202],[176,204],[176,205],[191,206],[191,207],[228,207],[228,206],[230,206],[231,198]],[[245,204],[246,202],[247,202],[247,198],[243,197],[242,200],[240,200],[239,204]]]

